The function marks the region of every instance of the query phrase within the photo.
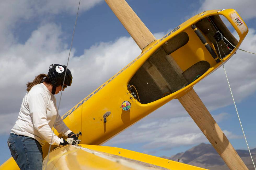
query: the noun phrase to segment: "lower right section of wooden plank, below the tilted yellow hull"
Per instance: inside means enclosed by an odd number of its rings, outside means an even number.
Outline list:
[[[248,169],[194,89],[178,100],[230,169]]]

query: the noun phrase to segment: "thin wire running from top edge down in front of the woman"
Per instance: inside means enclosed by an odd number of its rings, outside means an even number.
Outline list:
[[[80,7],[80,2],[81,2],[81,0],[79,0],[79,4],[78,4],[77,15],[76,15],[76,18],[75,18],[75,25],[74,25],[73,34],[72,34],[72,39],[71,39],[71,45],[70,45],[69,54],[68,54],[67,67],[66,67],[66,71],[65,71],[65,75],[64,75],[64,79],[63,79],[63,83],[62,83],[62,88],[61,88],[61,89],[63,89],[63,87],[64,87],[64,82],[65,82],[65,77],[66,77],[66,73],[67,73],[69,57],[70,57],[71,48],[72,48],[72,45],[73,45],[74,34],[75,34],[75,26],[76,26],[76,24],[77,24],[77,17],[78,17],[78,11],[79,11],[79,7]],[[61,90],[60,100],[59,100],[59,105],[58,105],[58,110],[59,110],[59,108],[60,108],[60,102],[61,102],[62,92],[63,92],[63,90]],[[54,128],[53,128],[53,134],[54,134],[54,130],[55,130],[56,119],[57,119],[57,116],[56,116],[56,118],[55,118],[54,125],[53,125],[53,127],[54,127]],[[51,143],[52,143],[52,141],[53,141],[53,134],[52,134],[52,136],[51,136]],[[48,160],[49,160],[50,149],[51,149],[51,144],[50,144],[50,146],[49,146],[49,150],[48,150],[48,154],[47,154],[47,160],[46,160],[46,164],[45,164],[45,169],[46,169],[46,167],[47,167],[47,163],[48,163]]]

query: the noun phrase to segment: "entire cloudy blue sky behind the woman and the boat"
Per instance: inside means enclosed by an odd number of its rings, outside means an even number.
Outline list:
[[[10,157],[6,141],[26,82],[52,63],[66,63],[79,1],[0,2],[0,163]],[[234,8],[249,33],[241,45],[256,49],[256,6],[240,1],[127,1],[157,37],[203,10]],[[220,3],[222,2],[222,3]],[[123,51],[124,53],[121,53]],[[69,68],[72,87],[63,93],[60,115],[133,60],[140,49],[102,0],[81,1]],[[251,148],[255,141],[256,57],[237,52],[225,65]],[[11,69],[15,66],[15,69]],[[194,87],[231,144],[246,149],[223,68]],[[57,101],[59,96],[56,96]],[[129,140],[127,140],[129,137]],[[172,100],[104,145],[155,156],[171,156],[207,139],[177,100]],[[160,147],[161,146],[161,147]]]

